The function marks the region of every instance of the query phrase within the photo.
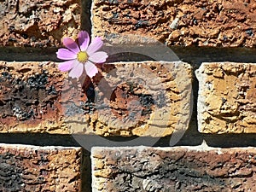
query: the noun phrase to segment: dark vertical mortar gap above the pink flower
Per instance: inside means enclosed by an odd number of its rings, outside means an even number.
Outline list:
[[[81,1],[81,30],[89,32],[91,35],[91,3],[92,0],[80,0]]]

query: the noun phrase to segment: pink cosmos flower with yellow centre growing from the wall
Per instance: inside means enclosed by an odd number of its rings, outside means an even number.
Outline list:
[[[97,51],[102,47],[102,39],[96,37],[89,45],[90,37],[88,32],[79,32],[79,44],[77,44],[72,38],[64,38],[63,44],[67,49],[59,49],[56,54],[61,60],[67,60],[61,62],[58,68],[61,72],[69,72],[71,78],[79,78],[83,71],[92,78],[98,73],[94,63],[105,62],[108,58],[107,53],[103,51]]]

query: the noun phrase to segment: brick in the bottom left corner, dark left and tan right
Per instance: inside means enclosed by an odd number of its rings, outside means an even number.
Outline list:
[[[0,145],[1,191],[80,191],[80,148]]]

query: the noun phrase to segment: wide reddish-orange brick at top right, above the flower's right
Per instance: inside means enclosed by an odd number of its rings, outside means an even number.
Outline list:
[[[167,45],[253,47],[255,25],[253,1],[95,0],[92,7],[92,32],[109,44],[151,43],[147,37]]]

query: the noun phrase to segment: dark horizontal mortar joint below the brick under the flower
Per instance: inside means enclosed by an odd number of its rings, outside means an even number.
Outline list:
[[[169,145],[172,136],[168,137],[141,137],[140,143],[129,146],[136,147],[144,145],[148,147],[172,147]],[[76,141],[79,138],[79,141]],[[103,143],[96,143],[96,141]],[[199,132],[185,133],[182,139],[175,146],[197,146],[203,140],[207,145],[214,148],[239,148],[256,147],[256,134],[201,134]],[[125,147],[126,142],[136,141],[137,137],[100,137],[96,135],[62,135],[48,133],[1,133],[0,143],[27,144],[36,146],[63,146],[63,147],[84,147],[90,150],[93,146],[102,147]],[[152,143],[152,139],[155,143]],[[131,142],[132,143],[132,142]],[[150,143],[150,145],[148,145]],[[151,146],[152,145],[152,146]]]

